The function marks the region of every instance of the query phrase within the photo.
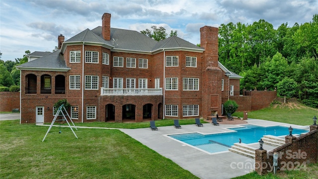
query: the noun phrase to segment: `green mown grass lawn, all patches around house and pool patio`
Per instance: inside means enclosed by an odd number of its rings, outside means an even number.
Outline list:
[[[243,116],[236,112],[234,116]],[[311,125],[318,109],[269,107],[248,112],[248,118],[298,125]],[[180,120],[194,124],[194,119]],[[203,120],[201,120],[203,123]],[[58,123],[57,123],[58,124]],[[65,124],[62,124],[65,125]],[[77,126],[145,128],[140,123],[76,123]],[[158,120],[156,126],[173,125],[173,120]],[[107,178],[107,179],[197,179],[171,160],[160,156],[140,142],[116,129],[79,129],[76,139],[69,128],[53,127],[42,142],[47,127],[19,124],[18,120],[0,121],[0,178]],[[237,179],[315,179],[318,164],[306,171],[290,171],[273,176],[255,173]]]

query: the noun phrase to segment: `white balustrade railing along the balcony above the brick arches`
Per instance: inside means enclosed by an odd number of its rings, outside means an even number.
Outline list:
[[[162,95],[162,88],[160,89],[100,88],[100,95]]]

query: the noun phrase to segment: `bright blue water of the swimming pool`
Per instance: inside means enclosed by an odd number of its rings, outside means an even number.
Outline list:
[[[242,127],[228,128],[234,130],[233,132],[218,133],[218,134],[208,134],[203,135],[200,133],[187,133],[187,134],[176,134],[168,135],[174,139],[182,141],[186,144],[195,146],[202,150],[210,153],[228,151],[228,149],[234,145],[234,143],[239,142],[241,139],[242,143],[250,144],[258,142],[260,138],[264,135],[273,136],[286,136],[289,134],[288,127],[284,126],[270,126],[262,127],[256,125],[242,125]],[[303,129],[294,129],[293,134],[301,134],[309,132]]]

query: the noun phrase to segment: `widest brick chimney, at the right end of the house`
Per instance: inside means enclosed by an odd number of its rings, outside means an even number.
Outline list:
[[[200,43],[201,47],[205,49],[203,56],[205,63],[203,66],[208,67],[218,67],[218,35],[219,28],[204,26],[200,28]]]

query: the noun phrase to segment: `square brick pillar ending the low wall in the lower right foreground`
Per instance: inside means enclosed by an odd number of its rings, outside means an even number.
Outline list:
[[[267,151],[266,150],[255,150],[255,171],[258,175],[265,175],[268,172],[267,164]]]

